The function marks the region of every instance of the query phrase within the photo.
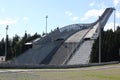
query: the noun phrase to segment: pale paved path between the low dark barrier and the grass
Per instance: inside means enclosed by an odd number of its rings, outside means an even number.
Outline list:
[[[0,73],[19,73],[19,72],[67,72],[67,71],[89,71],[89,70],[103,70],[120,68],[120,64],[105,65],[105,66],[93,66],[85,68],[70,68],[70,69],[0,69]]]

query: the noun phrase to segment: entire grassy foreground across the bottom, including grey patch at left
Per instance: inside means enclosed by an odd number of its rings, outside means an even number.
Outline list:
[[[115,66],[120,66],[120,64]],[[120,67],[102,67],[52,70],[38,69],[32,72],[16,73],[7,72],[0,73],[0,80],[120,80]]]

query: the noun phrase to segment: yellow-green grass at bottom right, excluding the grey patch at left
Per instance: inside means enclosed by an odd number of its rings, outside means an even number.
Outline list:
[[[120,80],[120,69],[38,72],[44,80]]]

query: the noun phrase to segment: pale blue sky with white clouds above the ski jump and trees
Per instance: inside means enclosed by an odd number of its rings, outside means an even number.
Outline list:
[[[116,25],[120,25],[120,0],[0,0],[0,39],[9,25],[9,37],[25,31],[30,34],[48,32],[74,23],[90,23],[98,19],[105,8],[116,8]],[[109,26],[109,27],[108,27]],[[105,30],[113,28],[113,14]]]

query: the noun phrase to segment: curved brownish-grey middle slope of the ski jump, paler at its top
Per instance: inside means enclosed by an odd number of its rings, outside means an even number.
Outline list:
[[[79,44],[83,36],[88,32],[89,29],[78,31],[77,33],[70,36],[53,55],[49,65],[61,65],[64,64],[65,60],[72,54],[74,49]]]

